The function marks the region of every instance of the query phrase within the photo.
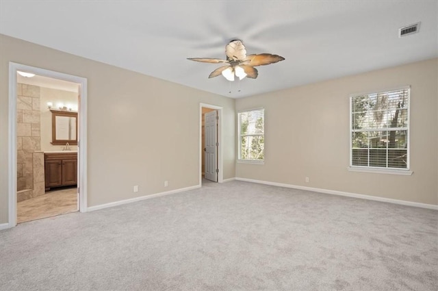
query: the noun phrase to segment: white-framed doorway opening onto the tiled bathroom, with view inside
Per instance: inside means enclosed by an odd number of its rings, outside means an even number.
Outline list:
[[[86,211],[85,105],[86,79],[10,63],[12,227]]]

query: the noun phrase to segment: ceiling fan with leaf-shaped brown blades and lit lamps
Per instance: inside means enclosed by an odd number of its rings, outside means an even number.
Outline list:
[[[234,81],[234,76],[237,76],[240,80],[244,77],[256,79],[259,72],[254,68],[255,66],[274,64],[285,59],[280,55],[272,55],[270,53],[246,55],[246,49],[242,40],[231,40],[225,46],[225,54],[227,55],[227,60],[214,58],[188,58],[188,60],[227,64],[226,66],[216,68],[208,77],[213,78],[222,74],[227,80]]]

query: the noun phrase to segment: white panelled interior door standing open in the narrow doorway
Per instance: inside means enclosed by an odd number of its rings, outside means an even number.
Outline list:
[[[205,179],[218,181],[218,110],[207,112],[205,117]]]

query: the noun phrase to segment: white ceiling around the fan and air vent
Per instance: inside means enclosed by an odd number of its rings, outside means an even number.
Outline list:
[[[1,34],[233,98],[438,57],[438,1],[1,0],[0,12]],[[225,58],[236,38],[285,60],[229,93],[208,79],[220,64],[186,58]]]

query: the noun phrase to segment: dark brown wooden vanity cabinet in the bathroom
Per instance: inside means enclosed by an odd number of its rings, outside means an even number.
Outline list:
[[[77,153],[44,153],[46,190],[77,184]]]

